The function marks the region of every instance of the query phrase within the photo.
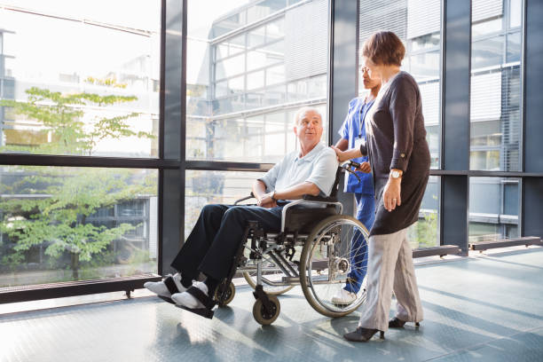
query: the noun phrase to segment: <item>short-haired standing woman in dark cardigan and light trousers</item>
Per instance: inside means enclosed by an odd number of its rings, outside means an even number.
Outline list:
[[[391,32],[371,35],[362,55],[382,88],[366,114],[366,144],[342,152],[340,161],[368,154],[374,175],[376,215],[370,231],[366,303],[350,341],[366,342],[378,331],[422,320],[422,307],[406,239],[419,218],[429,179],[430,155],[422,117],[421,92],[413,77],[400,71],[405,48]],[[397,314],[389,319],[392,290]]]

